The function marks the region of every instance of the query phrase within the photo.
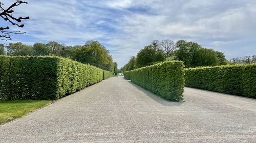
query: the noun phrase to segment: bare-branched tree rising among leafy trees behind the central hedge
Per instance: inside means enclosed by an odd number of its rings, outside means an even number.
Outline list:
[[[164,52],[166,54],[166,58],[169,58],[169,56],[172,55],[172,53],[176,49],[174,41],[168,40],[168,39],[162,40],[159,43],[159,45],[164,50]]]

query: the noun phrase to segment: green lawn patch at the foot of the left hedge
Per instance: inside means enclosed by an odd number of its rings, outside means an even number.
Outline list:
[[[0,101],[0,124],[20,118],[27,113],[52,103],[49,100]]]

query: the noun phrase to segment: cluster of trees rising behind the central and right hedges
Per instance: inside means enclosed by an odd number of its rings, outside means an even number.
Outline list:
[[[179,40],[153,41],[141,49],[137,56],[132,56],[129,63],[124,65],[124,71],[150,66],[163,61],[183,61],[186,67],[226,65],[228,61],[224,53],[214,49],[203,48],[196,42]]]

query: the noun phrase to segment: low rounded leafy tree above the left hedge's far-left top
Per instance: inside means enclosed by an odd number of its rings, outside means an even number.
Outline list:
[[[22,42],[10,43],[7,48],[7,55],[32,55],[33,47],[24,45]]]

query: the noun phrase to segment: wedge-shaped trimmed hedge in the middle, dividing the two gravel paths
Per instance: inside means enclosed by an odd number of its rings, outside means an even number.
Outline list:
[[[170,61],[124,72],[126,79],[166,100],[180,101],[184,92],[184,65]]]

